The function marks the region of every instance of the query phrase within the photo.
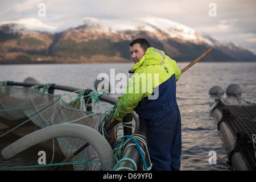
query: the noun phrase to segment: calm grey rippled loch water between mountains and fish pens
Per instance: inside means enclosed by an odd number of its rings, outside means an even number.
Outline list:
[[[177,64],[183,69],[188,63]],[[40,83],[94,89],[94,81],[100,73],[110,78],[110,69],[115,69],[115,75],[127,75],[132,67],[133,64],[0,65],[0,81],[23,82],[27,77],[34,77]],[[230,84],[238,84],[242,98],[256,102],[255,70],[256,63],[196,63],[181,75],[177,82],[183,141],[181,170],[230,170],[215,119],[210,112],[201,113],[213,104],[214,98],[208,92],[215,85],[225,90]],[[208,163],[210,151],[217,154],[216,165]]]

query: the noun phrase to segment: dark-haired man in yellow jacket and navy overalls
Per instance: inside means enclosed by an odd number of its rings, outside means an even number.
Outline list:
[[[181,71],[174,60],[163,51],[150,47],[146,39],[133,40],[130,53],[135,63],[129,71],[133,77],[126,93],[119,98],[112,122],[122,121],[135,110],[147,123],[152,170],[179,170],[181,118],[176,102],[176,81]]]

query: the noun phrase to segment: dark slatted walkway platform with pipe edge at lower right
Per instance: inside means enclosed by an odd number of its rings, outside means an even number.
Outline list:
[[[230,166],[238,171],[256,171],[256,105],[216,101],[212,113],[226,144]]]

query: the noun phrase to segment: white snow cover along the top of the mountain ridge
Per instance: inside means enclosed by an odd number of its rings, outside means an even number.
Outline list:
[[[168,19],[155,17],[142,17],[134,19],[97,19],[97,18],[65,18],[53,20],[51,22],[43,23],[36,18],[21,18],[0,22],[0,26],[10,25],[13,31],[40,31],[40,32],[62,32],[69,28],[76,28],[87,25],[101,28],[102,31],[110,31],[113,33],[122,31],[140,31],[147,30],[152,34],[159,30],[164,31],[171,38],[181,38],[187,40],[196,40],[195,30],[172,22]],[[163,39],[163,36],[159,36]]]

